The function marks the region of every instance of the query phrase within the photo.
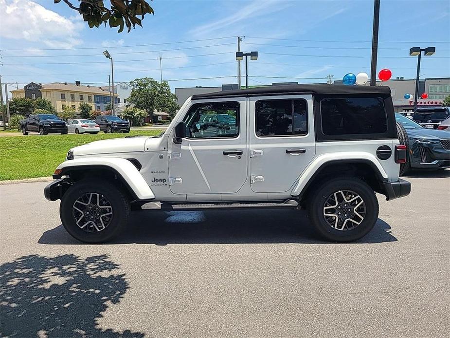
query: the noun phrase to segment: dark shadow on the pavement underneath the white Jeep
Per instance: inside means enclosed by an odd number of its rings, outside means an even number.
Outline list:
[[[378,219],[373,230],[354,243],[394,242],[391,226]],[[62,225],[44,232],[39,244],[80,244]],[[328,243],[317,238],[305,211],[149,211],[133,212],[128,228],[108,244],[270,244]]]

